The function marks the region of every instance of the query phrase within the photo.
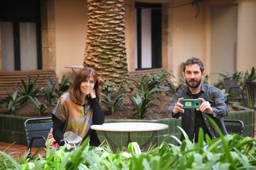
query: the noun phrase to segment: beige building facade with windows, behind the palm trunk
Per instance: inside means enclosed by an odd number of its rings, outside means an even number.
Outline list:
[[[1,1],[0,70],[69,75],[66,66],[83,63],[87,1],[27,2]],[[256,0],[125,0],[124,9],[129,71],[166,68],[177,78],[199,57],[214,82],[215,73],[256,67]]]

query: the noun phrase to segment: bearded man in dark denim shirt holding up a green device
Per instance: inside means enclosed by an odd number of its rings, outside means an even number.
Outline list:
[[[225,103],[224,95],[220,89],[202,83],[205,71],[200,59],[190,58],[183,65],[182,75],[186,79],[186,87],[177,91],[173,96],[168,114],[173,118],[182,116],[181,126],[191,140],[197,142],[199,128],[212,139],[219,137],[213,124],[207,119],[207,115],[213,118],[223,134],[228,134],[224,126],[223,116],[228,116],[229,109]],[[182,99],[198,99],[201,102],[199,108],[182,109]],[[184,136],[181,136],[181,140]]]

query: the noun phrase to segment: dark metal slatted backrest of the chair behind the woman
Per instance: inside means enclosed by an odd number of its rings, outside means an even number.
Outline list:
[[[24,123],[27,147],[45,147],[45,139],[53,127],[53,121],[49,118],[27,119]]]

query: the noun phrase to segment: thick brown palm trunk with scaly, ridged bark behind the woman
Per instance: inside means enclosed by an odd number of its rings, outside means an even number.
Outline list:
[[[83,65],[101,81],[121,83],[127,73],[123,0],[88,0],[88,28]]]

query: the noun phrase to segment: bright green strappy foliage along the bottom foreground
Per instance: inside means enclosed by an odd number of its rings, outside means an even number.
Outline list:
[[[216,129],[221,134],[220,129]],[[108,145],[90,147],[88,139],[75,150],[48,147],[45,158],[32,156],[26,161],[27,153],[15,160],[0,152],[0,169],[256,169],[255,139],[223,134],[217,139],[211,140],[208,136],[204,139],[200,129],[195,144],[183,129],[181,131],[185,136],[182,141],[170,136],[179,146],[163,142],[146,152],[141,152],[139,145],[132,142],[126,150],[117,149],[113,153]]]

